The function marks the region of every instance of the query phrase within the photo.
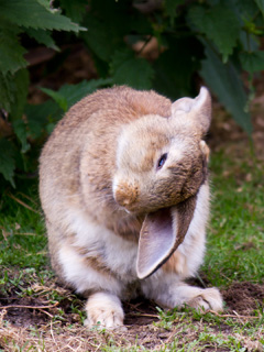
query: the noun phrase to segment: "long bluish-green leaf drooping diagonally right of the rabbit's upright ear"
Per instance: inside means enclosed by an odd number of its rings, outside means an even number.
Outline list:
[[[207,58],[202,61],[200,70],[201,77],[234,120],[251,134],[251,117],[245,111],[248,97],[240,74],[231,63],[223,64],[209,46],[206,47],[206,54]]]

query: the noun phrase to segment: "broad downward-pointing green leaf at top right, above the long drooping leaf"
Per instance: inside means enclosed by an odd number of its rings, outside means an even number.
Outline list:
[[[220,3],[209,10],[193,7],[188,18],[202,34],[216,44],[226,63],[240,37],[241,23],[235,12]]]

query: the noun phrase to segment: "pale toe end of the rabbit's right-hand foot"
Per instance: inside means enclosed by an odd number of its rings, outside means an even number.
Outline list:
[[[217,288],[205,288],[200,294],[187,301],[187,305],[196,309],[222,310],[222,297]]]

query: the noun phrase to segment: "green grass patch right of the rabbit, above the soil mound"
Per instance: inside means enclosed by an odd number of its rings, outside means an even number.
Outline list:
[[[202,271],[216,286],[233,280],[262,283],[264,167],[256,162],[227,160],[219,153],[211,168],[212,217]]]

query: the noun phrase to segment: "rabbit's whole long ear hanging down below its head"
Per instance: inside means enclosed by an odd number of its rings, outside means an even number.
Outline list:
[[[152,275],[184,241],[195,208],[196,196],[193,196],[177,206],[146,215],[139,242],[139,278]]]

